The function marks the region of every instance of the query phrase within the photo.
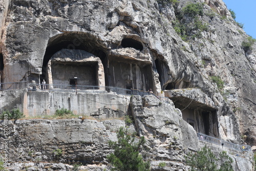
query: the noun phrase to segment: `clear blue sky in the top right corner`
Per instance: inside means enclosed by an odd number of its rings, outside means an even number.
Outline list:
[[[256,0],[222,0],[236,13],[236,22],[244,24],[244,31],[256,38]]]

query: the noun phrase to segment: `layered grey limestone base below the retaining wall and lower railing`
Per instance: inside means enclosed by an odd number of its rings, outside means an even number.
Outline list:
[[[151,170],[188,170],[185,156],[198,151],[205,144],[198,140],[191,125],[181,118],[181,112],[172,101],[162,103],[154,96],[133,96],[130,102],[134,123],[124,120],[84,119],[24,119],[8,122],[8,140],[4,140],[4,121],[0,122],[0,150],[8,143],[8,170],[110,170],[106,156],[113,152],[108,141],[116,141],[120,126],[127,126],[130,133],[144,136],[145,146],[140,153],[151,162]],[[221,146],[207,144],[216,152]],[[236,159],[234,170],[252,171],[251,152],[241,153],[225,148]],[[236,162],[238,161],[238,162]],[[241,162],[243,161],[243,162]],[[159,163],[166,163],[159,167]]]

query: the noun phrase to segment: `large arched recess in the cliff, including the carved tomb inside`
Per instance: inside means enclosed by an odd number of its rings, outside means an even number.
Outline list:
[[[50,38],[42,74],[47,84],[106,86],[108,58],[104,42],[84,32],[65,32]]]

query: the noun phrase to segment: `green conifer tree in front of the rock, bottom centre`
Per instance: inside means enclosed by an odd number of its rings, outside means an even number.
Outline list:
[[[136,143],[135,135],[127,134],[127,129],[120,127],[117,138],[118,141],[109,141],[109,146],[114,149],[114,153],[107,156],[107,159],[114,166],[112,170],[150,170],[150,162],[144,162],[139,154],[139,148],[145,143],[144,137],[141,137]]]

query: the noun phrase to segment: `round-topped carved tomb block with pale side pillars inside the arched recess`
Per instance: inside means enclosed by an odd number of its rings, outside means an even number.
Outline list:
[[[104,69],[99,57],[83,51],[62,49],[48,62],[49,84],[105,86]]]

